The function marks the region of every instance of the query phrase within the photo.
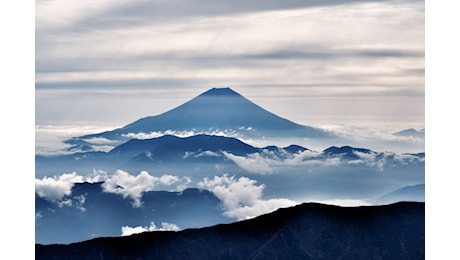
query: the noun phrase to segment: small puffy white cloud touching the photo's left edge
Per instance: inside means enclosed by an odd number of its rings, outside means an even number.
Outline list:
[[[35,179],[35,192],[42,198],[58,201],[66,195],[70,195],[76,182],[83,182],[82,176],[77,173],[64,173],[53,178],[43,177]]]

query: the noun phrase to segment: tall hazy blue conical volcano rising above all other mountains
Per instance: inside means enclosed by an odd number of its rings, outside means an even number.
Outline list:
[[[258,137],[329,137],[327,132],[296,124],[249,101],[230,88],[212,88],[163,114],[148,116],[122,128],[67,140],[87,145],[88,139],[104,137],[127,140],[128,135],[188,131],[193,133],[226,132]]]

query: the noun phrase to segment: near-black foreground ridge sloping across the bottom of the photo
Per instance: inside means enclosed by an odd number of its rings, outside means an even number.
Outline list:
[[[35,259],[424,259],[425,204],[305,203],[251,220],[35,246]]]

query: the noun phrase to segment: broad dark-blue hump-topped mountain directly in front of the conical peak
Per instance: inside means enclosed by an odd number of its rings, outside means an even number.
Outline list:
[[[36,156],[35,169],[36,175],[40,176],[52,169],[59,169],[60,172],[57,173],[87,172],[92,169],[105,169],[110,172],[119,168],[133,171],[146,170],[150,166],[160,164],[174,164],[177,167],[189,167],[188,165],[192,163],[235,165],[224,152],[247,156],[263,152],[264,149],[276,151],[274,155],[279,158],[308,150],[298,145],[286,148],[276,146],[256,148],[236,138],[224,136],[200,134],[181,138],[164,135],[151,139],[132,139],[109,152],[82,152],[54,157]]]

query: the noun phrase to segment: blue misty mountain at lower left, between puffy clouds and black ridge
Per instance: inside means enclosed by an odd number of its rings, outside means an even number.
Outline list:
[[[189,188],[182,192],[148,191],[142,204],[104,191],[102,183],[76,183],[69,195],[50,200],[35,194],[36,243],[71,243],[95,236],[118,236],[122,226],[171,223],[198,228],[229,223],[221,201],[211,192]]]

